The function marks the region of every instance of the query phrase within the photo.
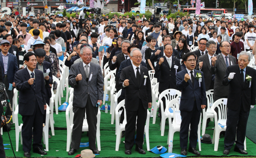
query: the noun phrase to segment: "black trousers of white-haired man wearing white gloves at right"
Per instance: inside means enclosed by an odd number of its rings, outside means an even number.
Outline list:
[[[238,110],[231,110],[228,108],[227,111],[227,128],[224,139],[224,148],[230,150],[234,142],[236,147],[244,149],[244,139],[246,134],[247,120],[250,111],[243,110],[243,102],[241,102]],[[237,137],[237,140],[235,141]]]

